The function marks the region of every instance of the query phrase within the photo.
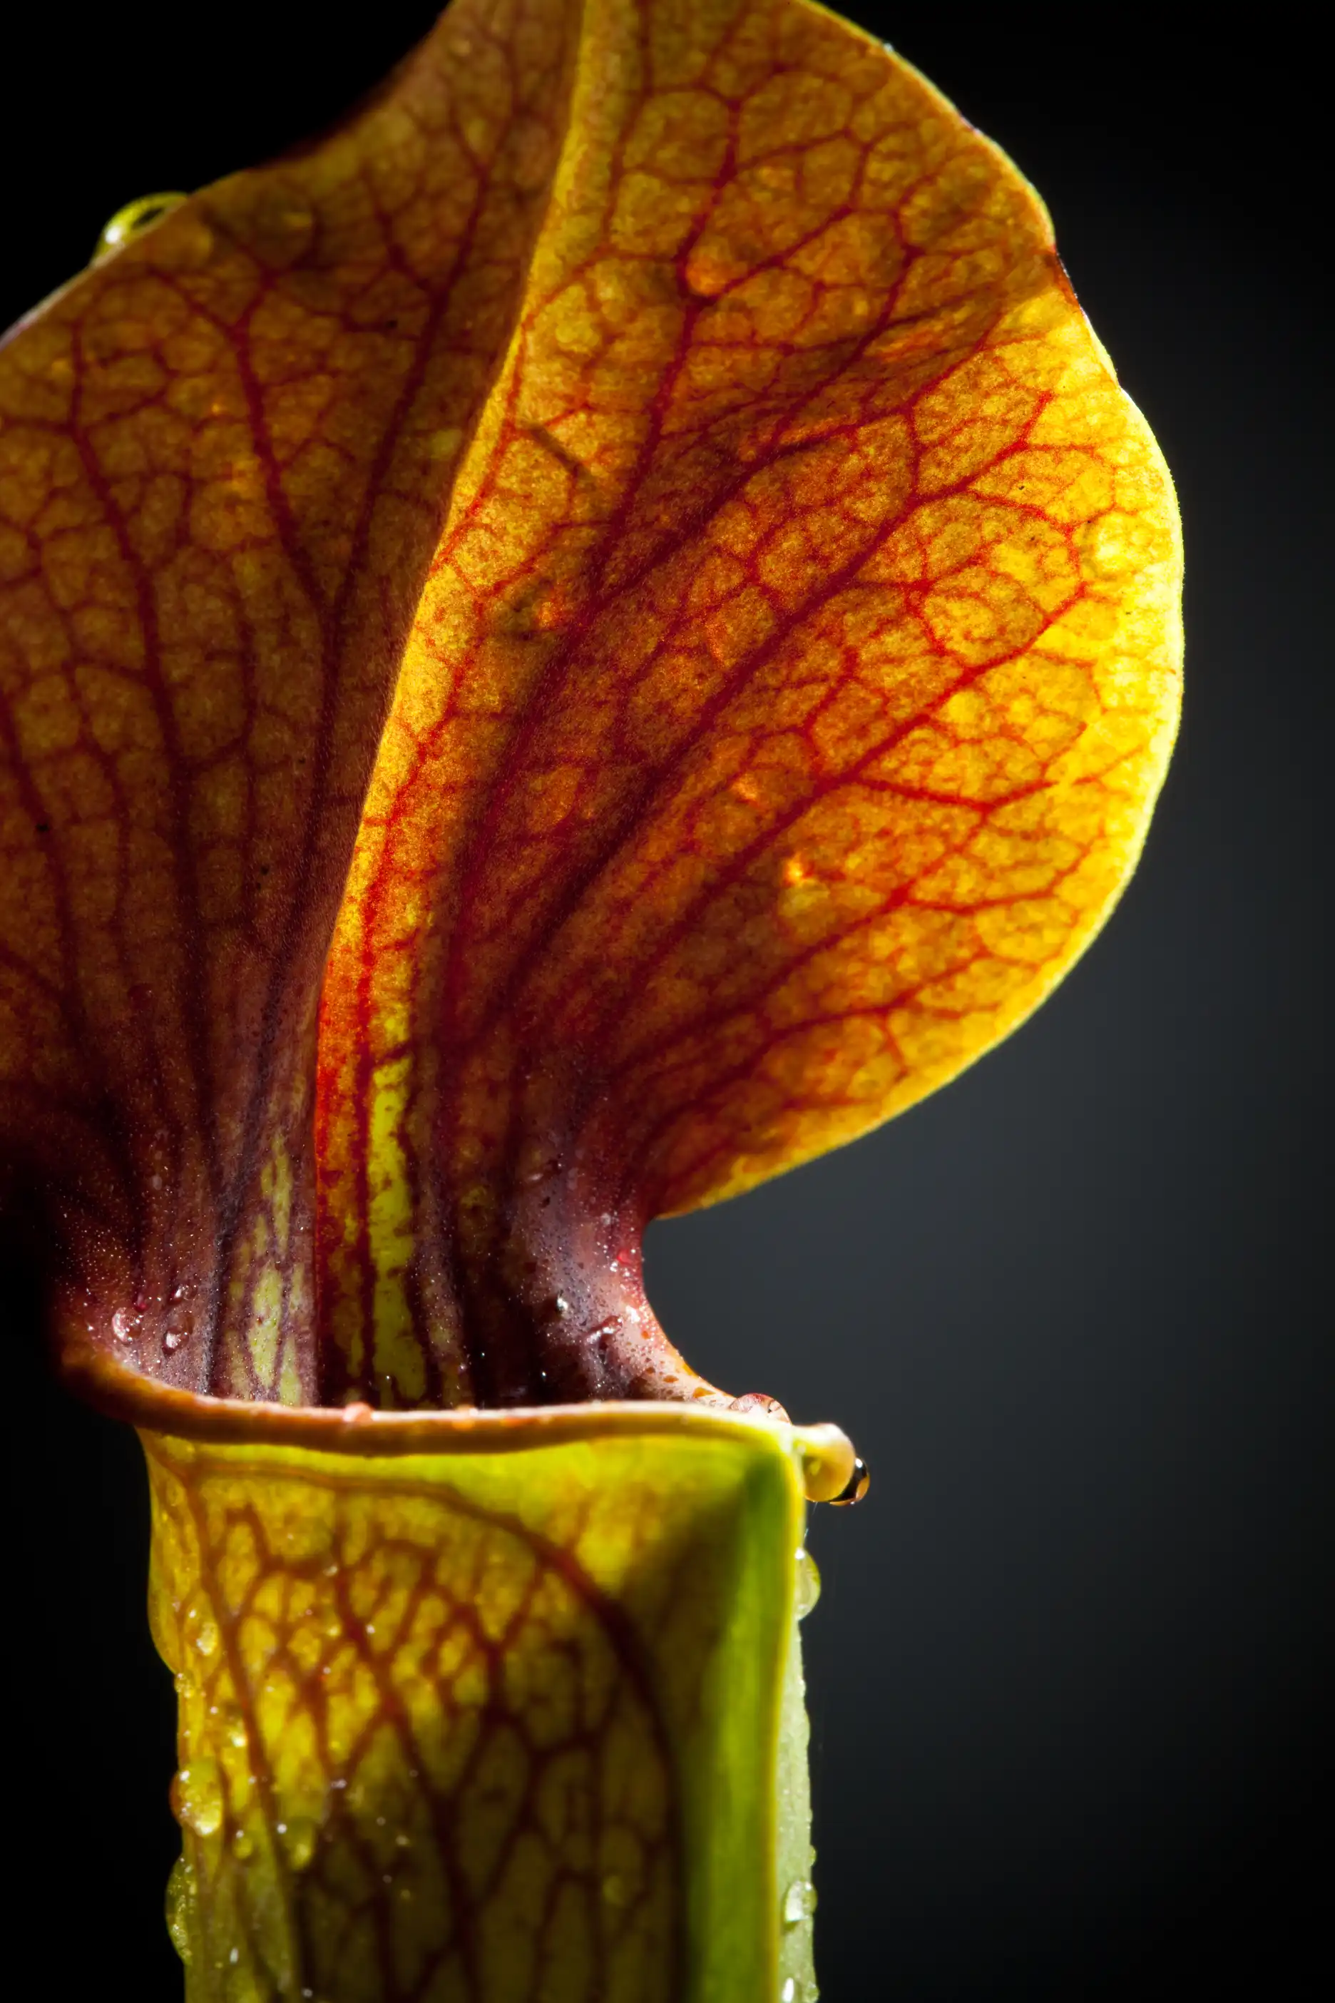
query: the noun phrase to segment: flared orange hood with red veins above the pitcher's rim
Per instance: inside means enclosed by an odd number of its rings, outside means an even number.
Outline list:
[[[0,415],[0,1116],[72,1364],[727,1402],[646,1218],[1005,1036],[1163,777],[1171,483],[1033,192],[805,0],[456,0]]]

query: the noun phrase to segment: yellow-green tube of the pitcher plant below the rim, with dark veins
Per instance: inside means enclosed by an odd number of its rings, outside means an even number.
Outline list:
[[[342,1434],[140,1434],[188,2003],[809,2003],[803,1436]]]

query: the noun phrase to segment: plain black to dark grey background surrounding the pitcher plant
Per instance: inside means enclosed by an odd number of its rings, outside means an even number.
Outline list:
[[[0,324],[128,198],[328,122],[428,26],[50,6],[4,28]],[[1189,695],[1147,857],[937,1100],[650,1232],[691,1360],[839,1418],[807,1624],[827,2003],[1331,1991],[1329,1060],[1319,859],[1329,176],[1293,6],[861,8],[1037,182],[1187,529]],[[172,1693],[126,1432],[6,1368],[2,1741],[40,1993],[180,1997]],[[14,1939],[14,1935],[12,1935]]]

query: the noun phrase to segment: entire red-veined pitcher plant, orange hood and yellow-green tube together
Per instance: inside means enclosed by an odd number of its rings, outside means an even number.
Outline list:
[[[1177,517],[1043,204],[807,0],[454,0],[0,425],[2,1190],[144,1442],[190,2003],[809,2003],[867,1474],[640,1240],[1135,867]]]

